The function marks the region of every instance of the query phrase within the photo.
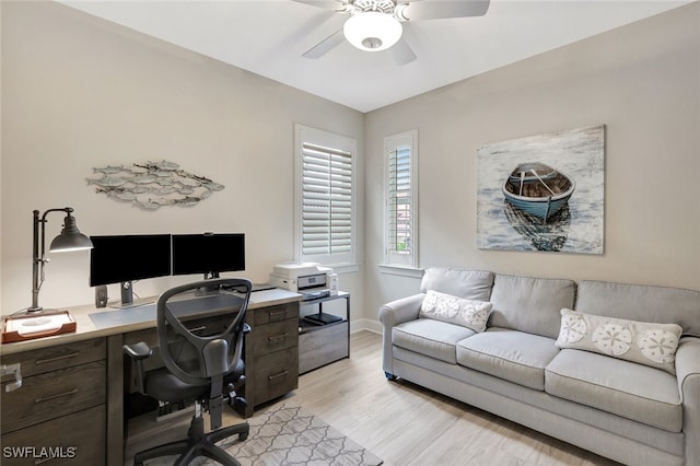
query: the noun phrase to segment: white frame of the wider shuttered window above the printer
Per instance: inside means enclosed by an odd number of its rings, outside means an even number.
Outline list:
[[[357,184],[358,184],[358,160],[357,140],[354,138],[312,128],[308,126],[294,125],[294,153],[295,153],[295,215],[294,215],[294,260],[296,263],[318,263],[325,266],[351,266],[357,264]],[[328,152],[346,153],[350,158],[350,244],[349,251],[329,254],[305,254],[304,253],[304,151],[308,148],[326,148]],[[323,152],[323,151],[322,151]],[[329,175],[332,177],[331,175]],[[330,228],[330,225],[329,225]],[[332,247],[332,238],[329,240],[329,247]]]

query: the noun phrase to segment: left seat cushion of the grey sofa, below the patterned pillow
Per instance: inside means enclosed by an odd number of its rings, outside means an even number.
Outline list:
[[[471,335],[476,335],[476,331],[460,325],[419,318],[394,327],[392,342],[397,347],[456,364],[455,345]]]

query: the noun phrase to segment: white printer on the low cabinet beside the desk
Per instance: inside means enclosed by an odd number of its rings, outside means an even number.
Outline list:
[[[270,284],[303,294],[304,300],[325,298],[330,294],[330,267],[317,263],[285,263],[276,265],[270,273]]]

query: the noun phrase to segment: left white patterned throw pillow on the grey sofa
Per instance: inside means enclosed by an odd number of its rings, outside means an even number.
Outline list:
[[[420,316],[483,331],[492,307],[493,304],[488,302],[428,290],[420,306]]]

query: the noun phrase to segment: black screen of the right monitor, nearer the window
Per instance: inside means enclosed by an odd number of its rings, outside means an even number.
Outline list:
[[[245,270],[243,233],[173,235],[173,275]]]

